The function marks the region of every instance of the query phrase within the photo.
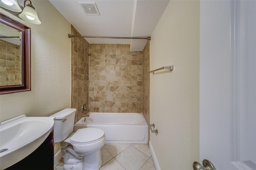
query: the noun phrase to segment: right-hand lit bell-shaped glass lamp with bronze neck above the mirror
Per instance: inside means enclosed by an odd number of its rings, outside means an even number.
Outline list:
[[[29,1],[30,4],[26,5],[26,1]],[[26,5],[26,6],[25,6]],[[41,24],[41,21],[39,20],[36,10],[34,6],[32,6],[32,3],[30,0],[24,1],[24,8],[22,10],[22,13],[19,14],[19,17],[29,23],[32,24]]]

